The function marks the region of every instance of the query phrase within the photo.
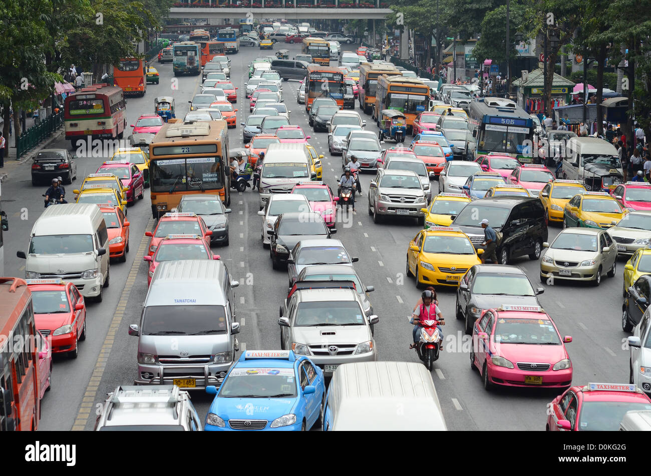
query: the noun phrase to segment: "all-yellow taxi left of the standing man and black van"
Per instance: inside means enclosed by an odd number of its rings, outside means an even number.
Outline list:
[[[468,236],[459,228],[434,226],[421,230],[407,248],[407,276],[416,286],[457,286],[471,266],[481,263]]]

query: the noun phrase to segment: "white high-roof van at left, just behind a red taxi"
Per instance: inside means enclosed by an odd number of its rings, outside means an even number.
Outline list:
[[[25,259],[25,278],[61,278],[83,297],[102,302],[109,287],[109,235],[95,204],[51,205],[36,220]]]

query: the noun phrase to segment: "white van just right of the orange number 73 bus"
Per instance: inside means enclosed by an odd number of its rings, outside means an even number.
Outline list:
[[[305,144],[269,144],[260,173],[260,210],[272,193],[291,193],[299,182],[316,179]]]

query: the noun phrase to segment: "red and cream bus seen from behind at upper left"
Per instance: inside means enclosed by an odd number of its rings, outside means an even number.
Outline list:
[[[126,101],[119,86],[98,83],[66,97],[63,105],[66,140],[122,139],[126,129]],[[90,149],[90,144],[89,144]]]

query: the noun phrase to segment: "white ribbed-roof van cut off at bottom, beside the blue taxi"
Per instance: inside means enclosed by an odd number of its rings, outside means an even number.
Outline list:
[[[447,431],[447,426],[424,365],[357,362],[337,367],[327,390],[323,429]]]

